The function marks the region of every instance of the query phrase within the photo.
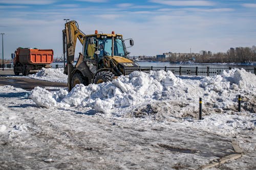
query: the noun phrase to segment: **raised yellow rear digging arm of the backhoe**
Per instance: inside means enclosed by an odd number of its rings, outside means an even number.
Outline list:
[[[71,64],[74,62],[75,48],[77,39],[83,44],[83,37],[86,36],[79,30],[78,24],[75,20],[69,21],[65,24],[65,30],[62,31],[63,35],[63,53],[67,49],[67,62]]]

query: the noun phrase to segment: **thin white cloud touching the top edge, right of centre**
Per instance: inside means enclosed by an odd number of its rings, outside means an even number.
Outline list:
[[[164,1],[164,0],[151,0],[152,3],[170,5],[170,6],[214,6],[215,3],[210,1]]]

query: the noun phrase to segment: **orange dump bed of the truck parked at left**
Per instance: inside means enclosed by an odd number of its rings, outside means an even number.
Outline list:
[[[53,50],[18,48],[16,57],[16,60],[21,64],[51,64],[53,62]]]

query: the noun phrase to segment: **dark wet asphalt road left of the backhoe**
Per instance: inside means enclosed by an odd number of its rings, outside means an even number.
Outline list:
[[[55,87],[67,87],[66,83],[49,82],[36,79],[24,78],[23,76],[14,76],[13,69],[0,70],[0,86],[11,85],[26,90],[32,90],[36,86],[45,87],[49,90],[54,90]]]

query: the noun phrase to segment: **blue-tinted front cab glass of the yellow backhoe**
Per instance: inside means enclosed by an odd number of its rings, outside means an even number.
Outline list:
[[[112,55],[112,38],[99,39],[99,51],[103,51],[101,54],[106,54],[108,56]],[[114,56],[124,57],[124,45],[122,39],[114,38]]]

